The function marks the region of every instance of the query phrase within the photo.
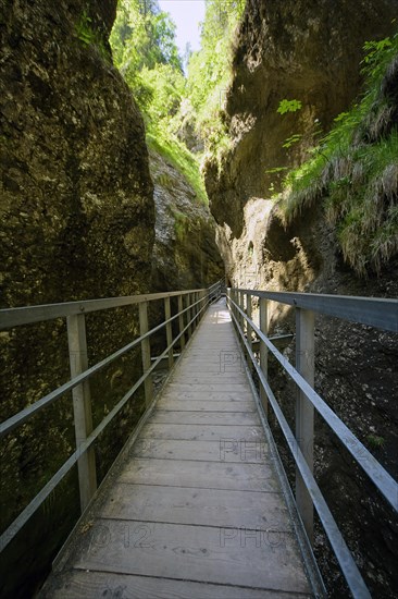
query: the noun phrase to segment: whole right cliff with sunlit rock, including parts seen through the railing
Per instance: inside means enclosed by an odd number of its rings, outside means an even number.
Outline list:
[[[377,279],[356,277],[343,264],[336,232],[326,223],[321,203],[286,227],[271,199],[281,174],[266,172],[299,164],[316,129],[327,131],[333,119],[347,110],[360,89],[363,42],[390,35],[397,10],[395,0],[248,1],[226,107],[232,149],[221,169],[215,161],[206,167],[219,246],[232,285],[397,297],[397,262],[391,261]],[[300,100],[303,108],[278,114],[283,99]],[[299,143],[283,148],[294,134],[301,135]],[[291,310],[281,313],[274,307],[272,303],[271,330],[294,332]],[[286,349],[286,355],[294,359],[294,346]],[[397,357],[394,334],[334,319],[316,320],[316,389],[393,476],[397,476],[393,380]],[[270,369],[271,386],[293,418],[295,390],[275,365]],[[394,516],[320,420],[316,477],[372,592],[393,597],[397,584]],[[315,542],[331,596],[345,595],[320,529]]]

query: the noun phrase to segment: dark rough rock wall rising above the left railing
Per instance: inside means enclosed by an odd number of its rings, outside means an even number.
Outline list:
[[[152,183],[108,48],[116,2],[3,4],[1,304],[146,290]]]

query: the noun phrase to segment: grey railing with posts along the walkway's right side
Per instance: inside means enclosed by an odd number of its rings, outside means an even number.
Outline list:
[[[315,509],[353,597],[369,598],[371,595],[368,587],[313,476],[314,409],[327,423],[395,511],[398,511],[398,485],[313,389],[314,316],[315,313],[328,315],[398,332],[398,301],[242,289],[228,289],[226,296],[234,325],[246,351],[249,368],[254,370],[259,378],[260,398],[265,416],[270,404],[296,462],[296,505],[309,542],[312,543],[313,538],[313,509]],[[253,297],[259,301],[259,327],[251,317]],[[270,301],[296,308],[296,368],[268,337]],[[253,351],[253,333],[260,341],[258,357]],[[268,355],[270,352],[297,387],[295,433],[269,383]]]

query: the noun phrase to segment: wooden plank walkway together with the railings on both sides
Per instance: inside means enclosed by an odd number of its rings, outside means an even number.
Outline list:
[[[291,310],[295,335],[269,337],[270,303]],[[90,365],[86,325],[89,334],[102,342],[103,330],[109,331],[101,315],[112,309],[128,327],[127,343],[114,351],[112,338],[113,353]],[[9,436],[12,445],[18,442],[22,425],[72,395],[75,450],[15,519],[3,524],[0,535],[0,551],[10,546],[11,554],[14,540],[23,551],[26,524],[77,464],[82,516],[39,597],[325,597],[312,551],[315,513],[347,594],[371,597],[313,474],[315,414],[394,517],[398,485],[314,389],[316,315],[376,328],[383,334],[398,333],[397,300],[246,289],[223,292],[221,282],[209,289],[0,310],[0,330],[21,327],[22,347],[27,325],[58,320],[67,334],[71,378],[0,423],[0,438]],[[101,325],[97,331],[96,322]],[[277,344],[293,337],[290,362]],[[91,401],[92,378],[121,357],[126,368],[132,366],[127,354],[133,351],[133,359],[141,359],[141,369],[135,371],[138,380],[128,378],[123,398],[117,395],[113,407],[103,409],[100,421],[94,419],[92,407],[107,401],[107,384],[113,379],[102,377],[100,392],[97,388]],[[289,419],[271,387],[271,356],[273,370],[277,365],[295,386],[290,411],[295,414]],[[169,375],[154,395],[152,374],[164,363]],[[139,408],[136,420],[142,416],[97,489],[96,442],[112,420],[117,426],[115,417],[122,417],[137,391],[138,403],[130,409]],[[294,484],[282,465],[269,414],[290,452]],[[378,518],[381,526],[384,522]],[[45,541],[51,539],[47,536]]]

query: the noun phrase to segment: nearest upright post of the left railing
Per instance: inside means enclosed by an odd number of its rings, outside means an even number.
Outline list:
[[[86,322],[84,314],[69,316],[67,343],[71,377],[75,378],[88,368]],[[72,390],[73,415],[75,421],[76,449],[92,432],[92,415],[89,381],[86,380]],[[97,489],[96,455],[94,448],[85,451],[77,461],[78,486],[82,512],[89,504]]]

